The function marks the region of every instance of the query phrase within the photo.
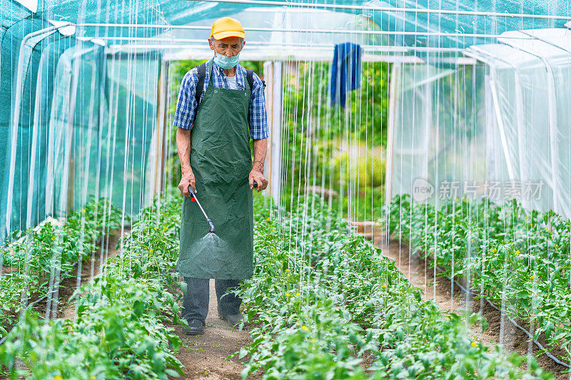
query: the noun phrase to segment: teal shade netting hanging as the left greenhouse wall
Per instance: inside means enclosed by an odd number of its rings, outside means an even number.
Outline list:
[[[102,46],[57,31],[31,38],[22,54],[14,128],[21,41],[47,26],[23,19],[1,40],[0,97],[12,105],[0,109],[3,237],[81,208],[91,195],[108,197],[130,214],[151,196],[143,190],[156,123],[156,52],[109,58]]]

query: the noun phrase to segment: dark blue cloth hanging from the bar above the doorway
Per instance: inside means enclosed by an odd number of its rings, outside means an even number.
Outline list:
[[[331,106],[337,103],[345,107],[347,91],[360,88],[362,52],[363,49],[356,43],[345,42],[335,45],[329,83]]]

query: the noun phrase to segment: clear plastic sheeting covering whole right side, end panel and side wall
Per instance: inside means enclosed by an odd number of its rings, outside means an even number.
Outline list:
[[[477,66],[395,68],[387,197],[517,199],[571,217],[571,31],[505,32],[465,54]]]

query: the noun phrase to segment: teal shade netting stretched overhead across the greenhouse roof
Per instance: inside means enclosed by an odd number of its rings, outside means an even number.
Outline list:
[[[4,2],[6,3],[6,2]],[[568,16],[569,4],[563,0],[553,1],[314,1],[315,4],[347,4],[356,6],[392,6],[395,8],[443,9],[458,11],[484,11],[510,14],[543,14]],[[36,17],[84,23],[119,24],[172,24],[184,25],[203,19],[216,19],[221,16],[238,14],[248,8],[281,7],[248,4],[211,3],[202,1],[158,0],[158,1],[39,1]],[[14,5],[9,1],[3,11],[9,11]],[[454,14],[423,14],[402,11],[370,11],[337,9],[337,11],[363,14],[383,31],[414,31],[443,33],[501,34],[503,31],[517,29],[537,29],[560,27],[565,21],[545,19],[524,19],[521,17],[483,17]],[[4,13],[4,12],[3,12]],[[25,16],[25,13],[21,16]],[[6,16],[3,16],[6,17]],[[4,22],[3,22],[4,25]],[[268,25],[271,26],[271,25]],[[128,31],[124,28],[105,28],[100,33],[107,36],[148,35],[157,31],[138,29]],[[454,46],[465,47],[475,43],[485,43],[484,38],[447,37],[447,36],[404,36],[394,38],[397,46]]]

